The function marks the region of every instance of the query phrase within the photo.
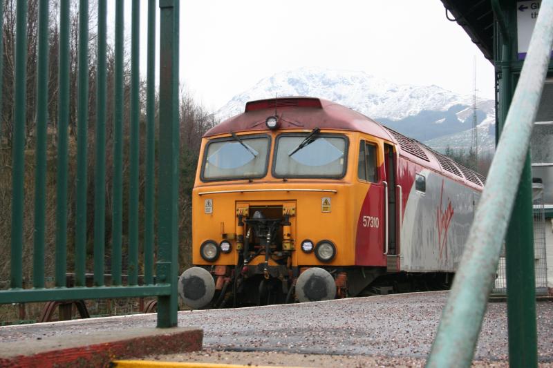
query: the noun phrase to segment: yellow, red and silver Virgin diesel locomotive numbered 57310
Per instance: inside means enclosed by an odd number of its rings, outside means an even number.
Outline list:
[[[203,137],[192,308],[447,287],[485,177],[331,101],[247,102]]]

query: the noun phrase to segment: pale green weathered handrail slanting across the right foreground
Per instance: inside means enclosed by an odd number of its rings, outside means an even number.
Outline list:
[[[552,45],[553,0],[543,0],[427,367],[471,365],[507,224],[527,161],[529,139]],[[509,313],[509,319],[511,317]],[[509,340],[511,338],[509,331]],[[527,364],[535,365],[535,361]]]

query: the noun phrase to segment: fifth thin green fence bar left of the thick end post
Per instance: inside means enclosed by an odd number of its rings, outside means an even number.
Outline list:
[[[86,191],[88,167],[88,0],[79,2],[79,104],[77,106],[77,203],[75,215],[75,285],[85,286]]]

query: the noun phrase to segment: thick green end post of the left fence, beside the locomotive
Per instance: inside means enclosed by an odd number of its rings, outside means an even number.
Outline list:
[[[158,327],[177,325],[178,278],[178,40],[179,1],[160,0],[160,148],[157,281],[171,284],[158,298]]]

